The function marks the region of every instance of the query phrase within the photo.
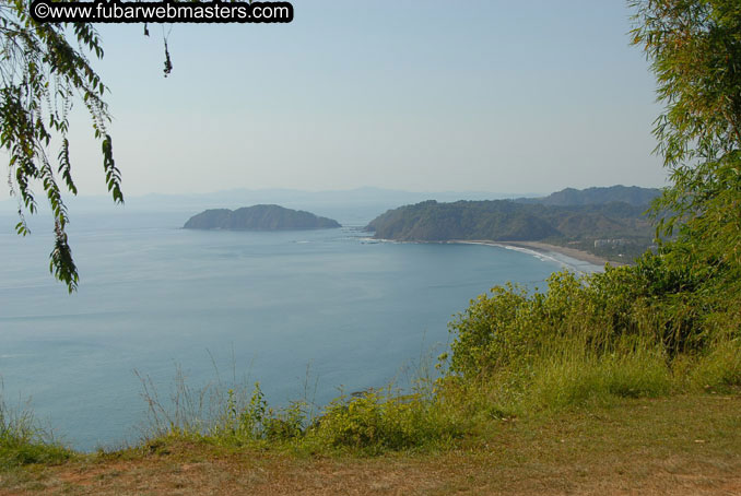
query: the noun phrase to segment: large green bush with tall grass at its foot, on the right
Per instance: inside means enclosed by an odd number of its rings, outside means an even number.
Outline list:
[[[450,373],[487,390],[483,411],[741,385],[741,285],[722,264],[681,267],[684,249],[555,273],[545,292],[494,287],[451,322]]]

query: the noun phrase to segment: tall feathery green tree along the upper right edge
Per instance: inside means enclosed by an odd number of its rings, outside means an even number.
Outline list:
[[[708,277],[741,269],[741,2],[640,0],[633,43],[651,62],[657,152],[673,185],[655,211],[679,228],[673,262]]]

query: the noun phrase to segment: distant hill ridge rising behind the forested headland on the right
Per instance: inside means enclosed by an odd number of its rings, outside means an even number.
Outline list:
[[[632,205],[648,205],[661,194],[657,188],[638,186],[610,186],[607,188],[574,189],[566,188],[543,198],[518,198],[518,203],[539,203],[541,205],[602,205],[612,202],[624,202]]]

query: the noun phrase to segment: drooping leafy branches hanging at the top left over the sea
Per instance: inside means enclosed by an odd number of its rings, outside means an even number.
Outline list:
[[[28,14],[27,2],[0,4],[0,147],[9,156],[11,196],[19,199],[16,232],[23,236],[30,233],[24,213],[38,211],[32,184],[40,182],[54,216],[55,247],[49,269],[70,293],[77,288],[79,276],[67,240],[69,216],[62,189],[78,192],[68,140],[69,113],[77,99],[85,105],[95,138],[102,142],[108,191],[115,202],[124,202],[113,141],[106,130],[110,121],[103,101],[106,86],[89,56],[103,58],[101,39],[92,24],[39,24]],[[54,164],[49,156],[52,140],[61,142]]]

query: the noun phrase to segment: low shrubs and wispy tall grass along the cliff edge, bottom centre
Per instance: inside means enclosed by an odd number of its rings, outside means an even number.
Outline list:
[[[213,385],[195,390],[178,370],[169,402],[160,400],[149,379],[142,379],[142,385],[152,422],[148,450],[188,439],[231,448],[370,454],[439,446],[458,437],[464,425],[456,415],[455,403],[438,401],[427,377],[415,381],[411,393],[388,386],[342,394],[317,416],[305,399],[271,408],[257,382],[249,394],[242,386],[223,393]]]

